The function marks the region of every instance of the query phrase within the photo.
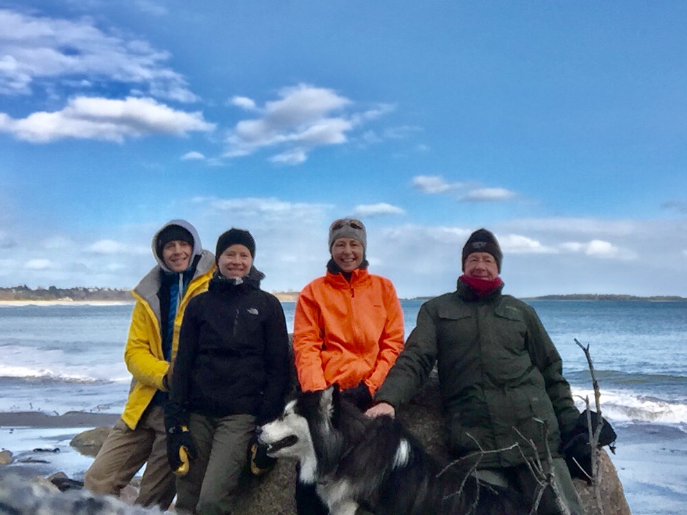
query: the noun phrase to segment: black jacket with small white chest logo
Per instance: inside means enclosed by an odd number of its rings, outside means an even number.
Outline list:
[[[284,409],[288,333],[274,295],[255,268],[241,279],[216,275],[186,307],[174,363],[167,426],[189,412],[209,417],[252,414],[257,424]]]

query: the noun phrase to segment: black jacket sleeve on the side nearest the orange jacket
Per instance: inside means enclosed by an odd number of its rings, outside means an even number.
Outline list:
[[[284,309],[281,308],[277,297],[270,295],[268,301],[271,305],[265,328],[267,383],[263,389],[263,402],[256,421],[259,426],[277,418],[284,410],[290,369]]]

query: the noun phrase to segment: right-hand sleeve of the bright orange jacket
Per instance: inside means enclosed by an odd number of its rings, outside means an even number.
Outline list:
[[[387,318],[379,339],[379,354],[372,374],[365,380],[373,397],[403,350],[403,310],[396,289],[390,281],[385,284],[384,304]]]

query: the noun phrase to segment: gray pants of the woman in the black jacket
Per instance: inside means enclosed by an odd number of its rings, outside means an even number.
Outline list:
[[[189,432],[198,455],[189,473],[177,478],[177,513],[231,513],[234,490],[255,433],[255,417],[241,414],[215,418],[191,413]]]

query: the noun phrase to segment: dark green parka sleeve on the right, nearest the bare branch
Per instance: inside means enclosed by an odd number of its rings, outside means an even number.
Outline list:
[[[580,411],[575,408],[570,385],[563,376],[563,360],[549,338],[534,309],[528,313],[528,351],[532,363],[544,378],[546,393],[551,399],[561,435],[569,433],[577,423]]]

